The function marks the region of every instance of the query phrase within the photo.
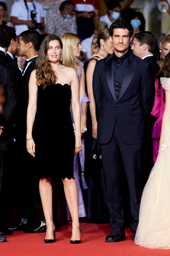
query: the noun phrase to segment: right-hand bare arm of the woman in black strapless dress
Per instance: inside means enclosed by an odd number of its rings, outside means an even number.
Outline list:
[[[77,155],[81,150],[81,115],[80,115],[80,103],[79,103],[79,80],[77,73],[74,69],[70,72],[71,77],[71,90],[72,90],[72,111],[75,124],[75,152]]]

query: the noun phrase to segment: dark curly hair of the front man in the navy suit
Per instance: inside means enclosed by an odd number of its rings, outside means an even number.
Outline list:
[[[129,37],[133,35],[133,27],[124,19],[116,19],[110,26],[109,34],[113,37],[113,30],[114,29],[128,29],[129,30]]]

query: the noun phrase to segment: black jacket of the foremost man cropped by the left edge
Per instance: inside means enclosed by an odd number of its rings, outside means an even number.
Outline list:
[[[13,140],[13,137],[10,133],[10,125],[11,125],[11,117],[13,114],[13,110],[16,105],[15,94],[13,90],[13,85],[11,83],[9,70],[7,70],[4,66],[0,65],[0,79],[1,85],[0,87],[4,91],[4,96],[6,98],[6,102],[4,105],[3,113],[1,114],[1,124],[3,128],[3,132],[0,136],[0,150],[7,150],[8,144],[10,140]]]

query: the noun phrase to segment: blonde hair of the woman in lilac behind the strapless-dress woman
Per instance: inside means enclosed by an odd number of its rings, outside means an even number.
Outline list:
[[[61,36],[63,44],[62,64],[74,68],[77,72],[79,70],[79,60],[74,56],[73,50],[79,40],[80,37],[72,33],[65,33]]]

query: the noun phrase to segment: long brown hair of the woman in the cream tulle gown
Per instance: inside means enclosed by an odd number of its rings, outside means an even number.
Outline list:
[[[170,77],[170,52],[166,55],[161,69],[155,75],[155,78],[158,78],[158,89],[157,89],[158,94],[161,93],[161,86],[162,86],[161,81],[160,81],[160,77],[167,77],[167,78]],[[165,102],[165,91],[164,91],[164,95],[163,95],[163,100]]]

